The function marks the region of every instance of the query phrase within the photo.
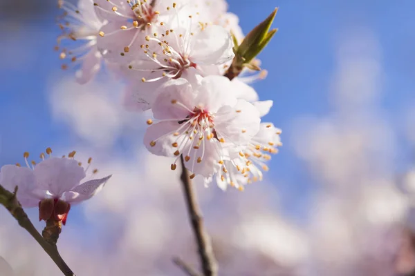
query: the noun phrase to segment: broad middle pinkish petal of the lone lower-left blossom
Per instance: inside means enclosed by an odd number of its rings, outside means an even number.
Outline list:
[[[35,166],[38,188],[48,190],[55,197],[77,186],[85,177],[84,168],[67,158],[49,158]]]

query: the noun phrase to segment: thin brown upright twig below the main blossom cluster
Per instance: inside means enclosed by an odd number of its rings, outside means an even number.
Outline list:
[[[194,235],[196,236],[197,246],[199,248],[199,257],[201,259],[201,265],[204,276],[216,276],[217,264],[214,258],[212,244],[210,237],[203,226],[203,217],[199,204],[197,203],[196,194],[194,193],[192,181],[190,181],[189,172],[185,168],[185,161],[181,156],[181,181],[183,183],[183,193],[185,194],[185,201],[187,206],[187,212],[189,213],[190,222]]]

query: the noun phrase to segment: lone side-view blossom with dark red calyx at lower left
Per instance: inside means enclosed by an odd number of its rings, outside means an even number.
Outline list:
[[[46,153],[49,158],[45,159],[45,154],[42,153],[42,161],[39,164],[35,161],[29,164],[29,153],[25,152],[27,167],[21,167],[20,164],[2,166],[0,184],[8,190],[14,190],[15,186],[18,186],[17,199],[21,206],[39,206],[40,219],[53,218],[65,224],[71,204],[78,204],[93,197],[111,175],[81,184],[91,165],[91,158],[86,168],[83,168],[80,162],[73,159],[75,151],[62,158],[52,157],[50,148],[46,149]],[[98,170],[93,170],[93,174],[96,172]]]

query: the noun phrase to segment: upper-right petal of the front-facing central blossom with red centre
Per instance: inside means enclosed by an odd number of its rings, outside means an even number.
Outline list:
[[[203,78],[201,86],[197,88],[197,97],[194,104],[214,113],[224,105],[234,106],[237,103],[234,97],[232,85],[227,77],[208,76]]]

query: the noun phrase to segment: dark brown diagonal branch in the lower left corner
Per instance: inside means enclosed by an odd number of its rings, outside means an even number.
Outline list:
[[[26,215],[23,208],[21,208],[19,201],[17,201],[16,193],[17,187],[15,188],[14,193],[11,193],[0,185],[0,204],[6,207],[10,214],[15,217],[19,225],[26,229],[26,231],[36,239],[36,242],[42,246],[46,253],[48,253],[49,257],[55,262],[64,275],[75,276],[75,273],[72,272],[71,268],[68,267],[59,255],[56,244],[49,244],[42,235],[37,232],[32,221],[30,221],[28,215]]]

